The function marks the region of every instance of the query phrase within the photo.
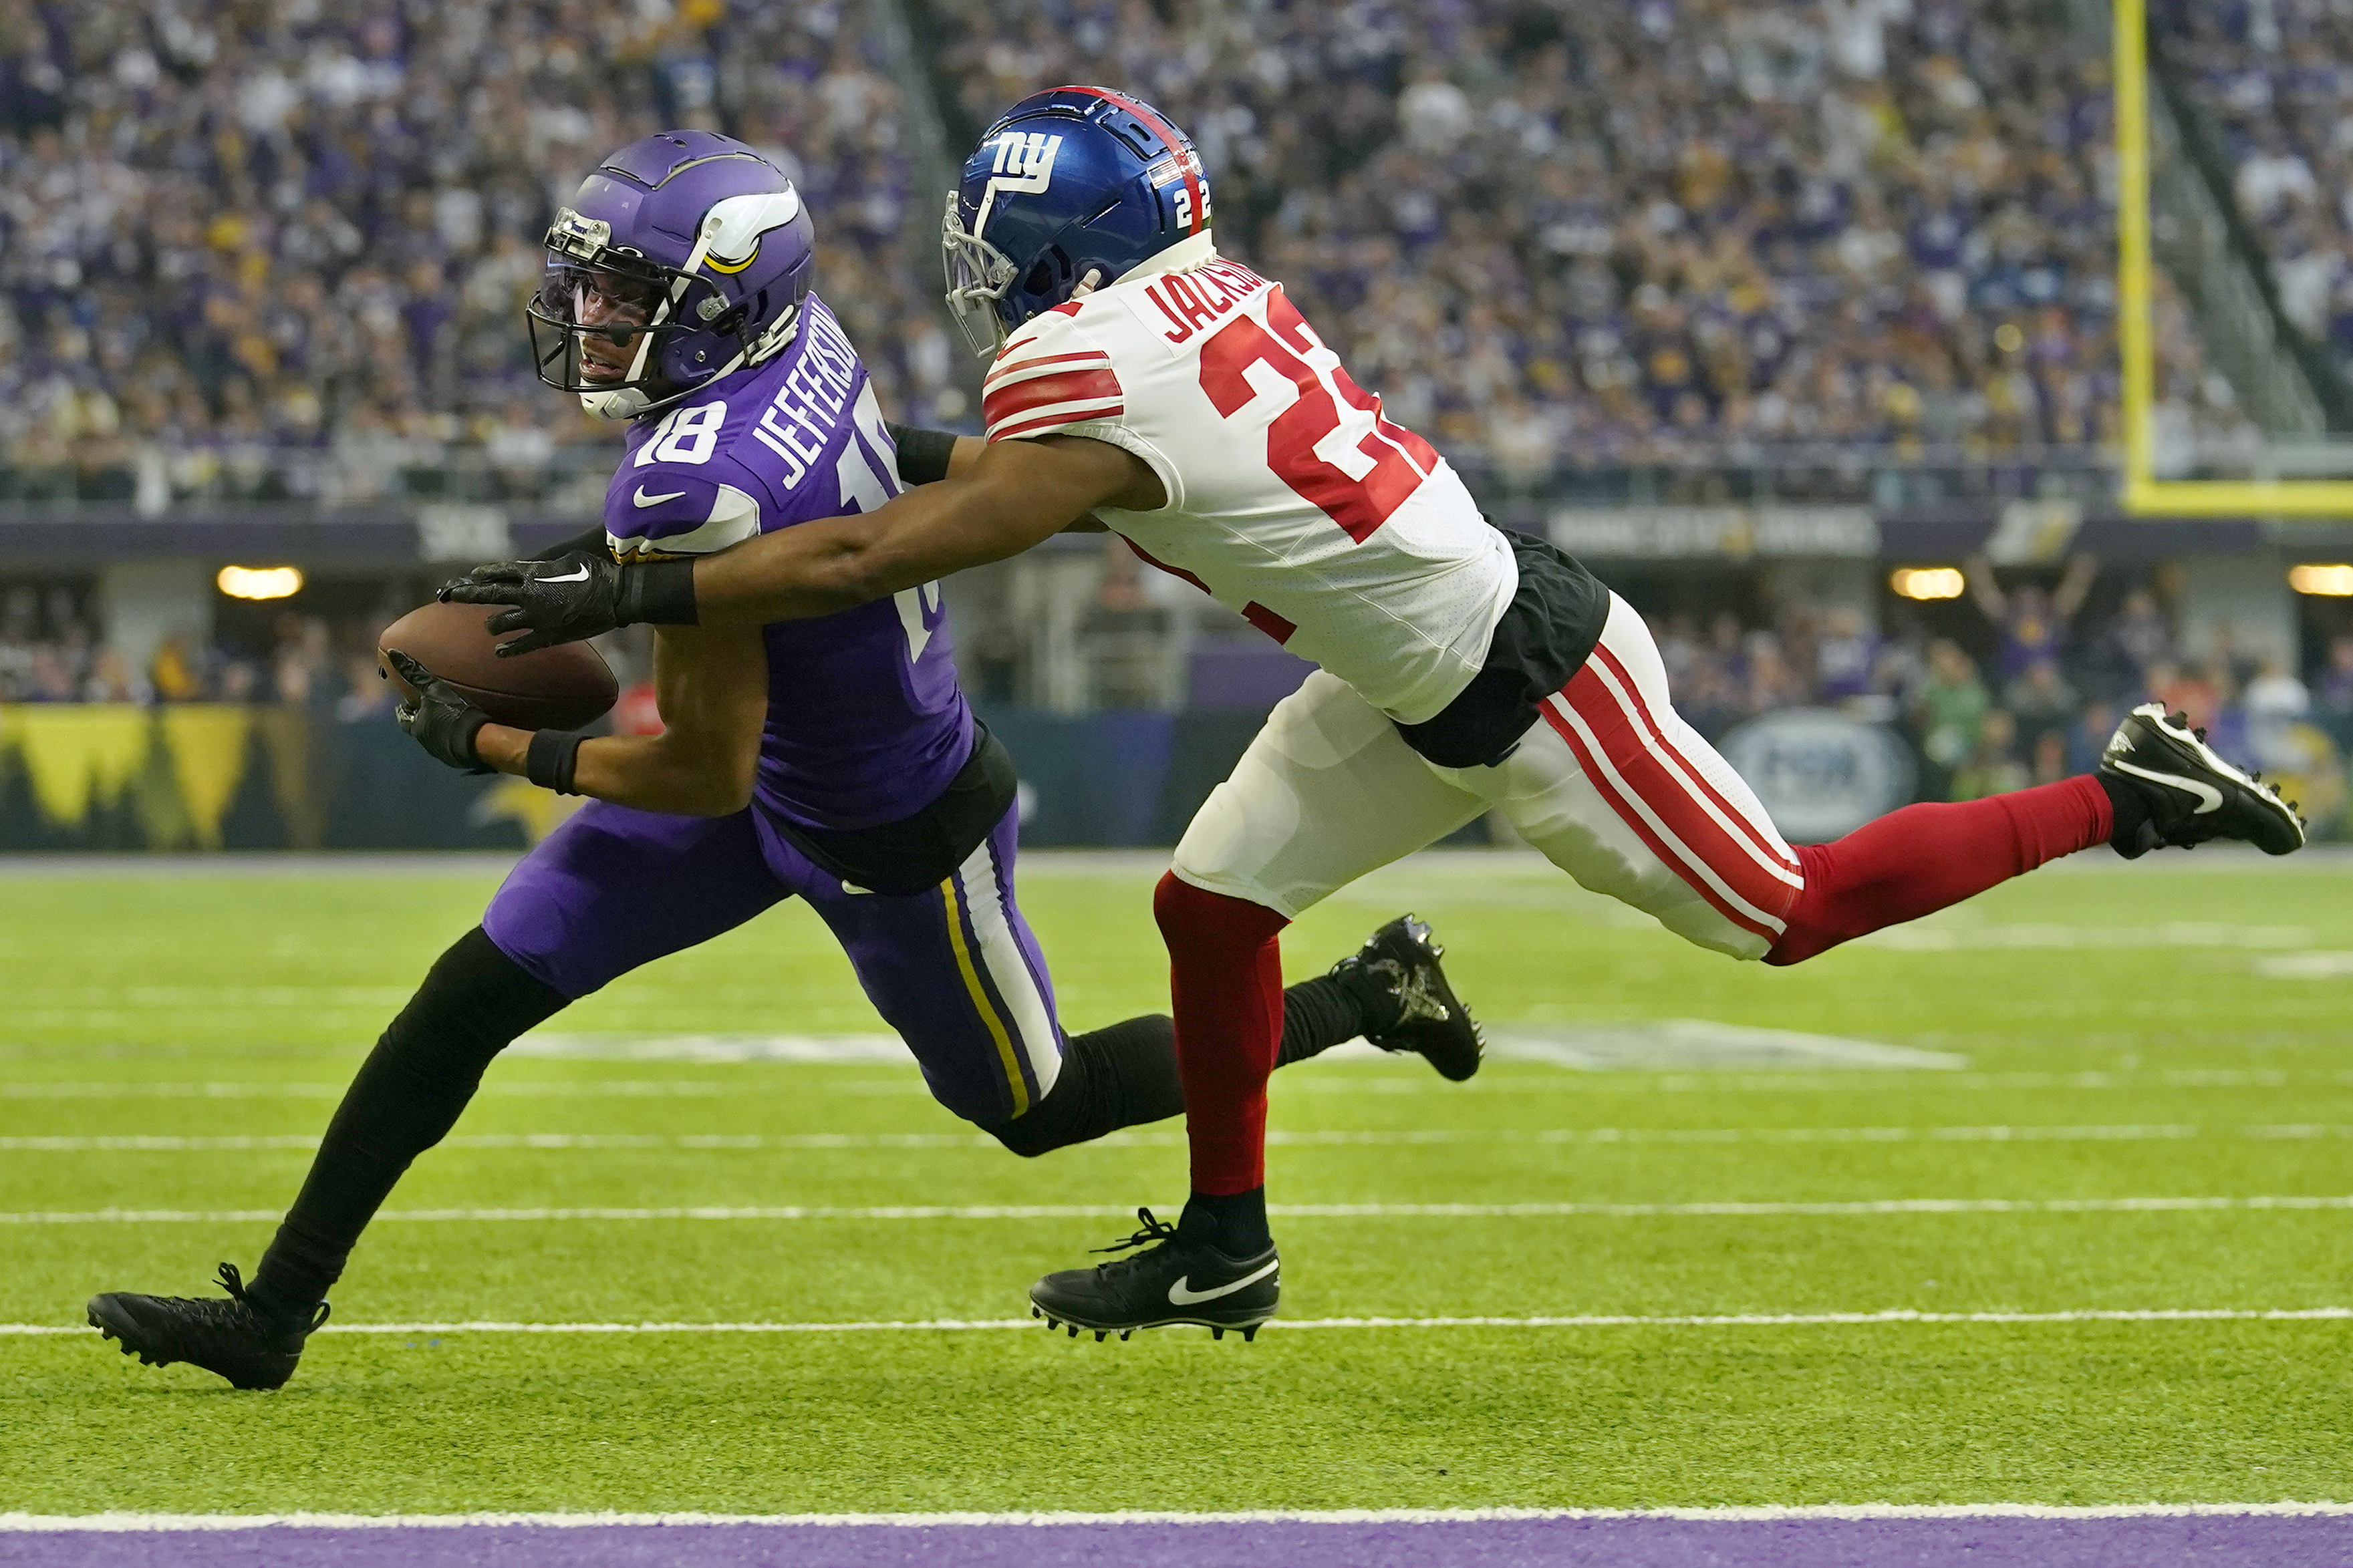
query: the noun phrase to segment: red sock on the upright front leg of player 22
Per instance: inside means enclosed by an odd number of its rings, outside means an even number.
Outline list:
[[[1160,877],[1153,919],[1169,947],[1176,1077],[1193,1190],[1266,1185],[1266,1074],[1282,1048],[1282,926],[1266,905]]]

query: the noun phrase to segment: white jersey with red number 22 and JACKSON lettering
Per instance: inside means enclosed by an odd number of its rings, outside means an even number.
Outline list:
[[[1167,505],[1104,522],[1400,724],[1471,684],[1520,585],[1447,461],[1207,235],[1028,322],[981,416],[993,442],[1085,435],[1151,463]]]

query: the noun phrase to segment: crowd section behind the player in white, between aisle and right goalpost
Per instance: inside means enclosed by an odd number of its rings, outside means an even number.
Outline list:
[[[1191,127],[1219,242],[1506,484],[2115,440],[2104,45],[2040,0],[929,9],[972,127],[1066,80]],[[2245,418],[2160,341],[2181,468]]]

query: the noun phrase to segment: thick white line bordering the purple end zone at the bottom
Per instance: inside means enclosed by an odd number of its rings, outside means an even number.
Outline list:
[[[1814,1502],[1711,1509],[1245,1509],[1231,1514],[0,1514],[0,1530],[461,1530],[489,1526],[1085,1526],[1085,1523],[1487,1523],[1581,1519],[2231,1519],[2348,1516],[2353,1502]]]

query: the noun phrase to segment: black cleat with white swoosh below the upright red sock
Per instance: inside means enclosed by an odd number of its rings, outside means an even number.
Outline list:
[[[1282,1295],[1275,1248],[1268,1246],[1257,1258],[1228,1258],[1184,1234],[1184,1227],[1155,1220],[1151,1208],[1139,1208],[1136,1218],[1144,1229],[1096,1251],[1148,1251],[1092,1269],[1047,1274],[1031,1286],[1031,1316],[1042,1316],[1049,1331],[1068,1326],[1073,1340],[1080,1328],[1092,1328],[1096,1340],[1108,1333],[1125,1340],[1136,1328],[1176,1324],[1195,1324],[1217,1338],[1238,1328],[1245,1340],[1254,1340],[1259,1324],[1275,1316],[1275,1300]]]

